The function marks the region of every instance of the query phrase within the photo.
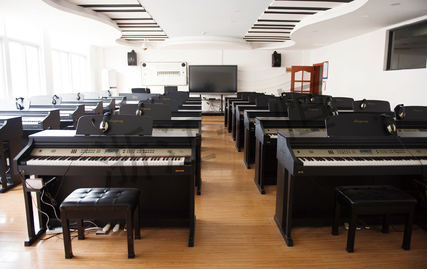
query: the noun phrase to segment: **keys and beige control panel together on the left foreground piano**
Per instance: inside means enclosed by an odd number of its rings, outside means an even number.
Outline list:
[[[183,166],[191,162],[190,148],[34,148],[33,166]]]

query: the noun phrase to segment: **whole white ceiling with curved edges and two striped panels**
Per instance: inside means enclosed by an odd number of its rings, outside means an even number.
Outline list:
[[[100,47],[311,50],[426,15],[427,1],[3,0],[0,11]]]

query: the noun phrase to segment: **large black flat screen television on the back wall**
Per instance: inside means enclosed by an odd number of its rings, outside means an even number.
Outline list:
[[[193,94],[237,93],[237,65],[189,65],[188,80]]]

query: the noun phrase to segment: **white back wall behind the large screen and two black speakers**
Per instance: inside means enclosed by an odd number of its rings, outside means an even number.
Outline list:
[[[141,62],[187,62],[187,65],[238,65],[237,89],[280,94],[278,89],[289,91],[290,73],[285,67],[303,64],[303,51],[278,50],[282,56],[281,67],[271,67],[272,50],[156,50],[136,49],[137,66],[127,65],[131,48],[103,48],[99,68],[117,71],[117,92],[130,92],[141,87]],[[163,93],[163,86],[148,86],[152,93]],[[188,86],[178,86],[178,91],[188,91]],[[281,92],[281,91],[280,91]],[[206,95],[213,98],[215,95]]]

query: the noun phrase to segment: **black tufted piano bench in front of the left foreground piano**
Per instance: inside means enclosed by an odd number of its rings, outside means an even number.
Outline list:
[[[140,239],[139,189],[87,188],[76,189],[61,203],[61,223],[65,258],[71,259],[70,219],[77,220],[79,240],[85,239],[83,219],[126,219],[128,259],[135,258],[132,219],[135,221],[135,239]]]

